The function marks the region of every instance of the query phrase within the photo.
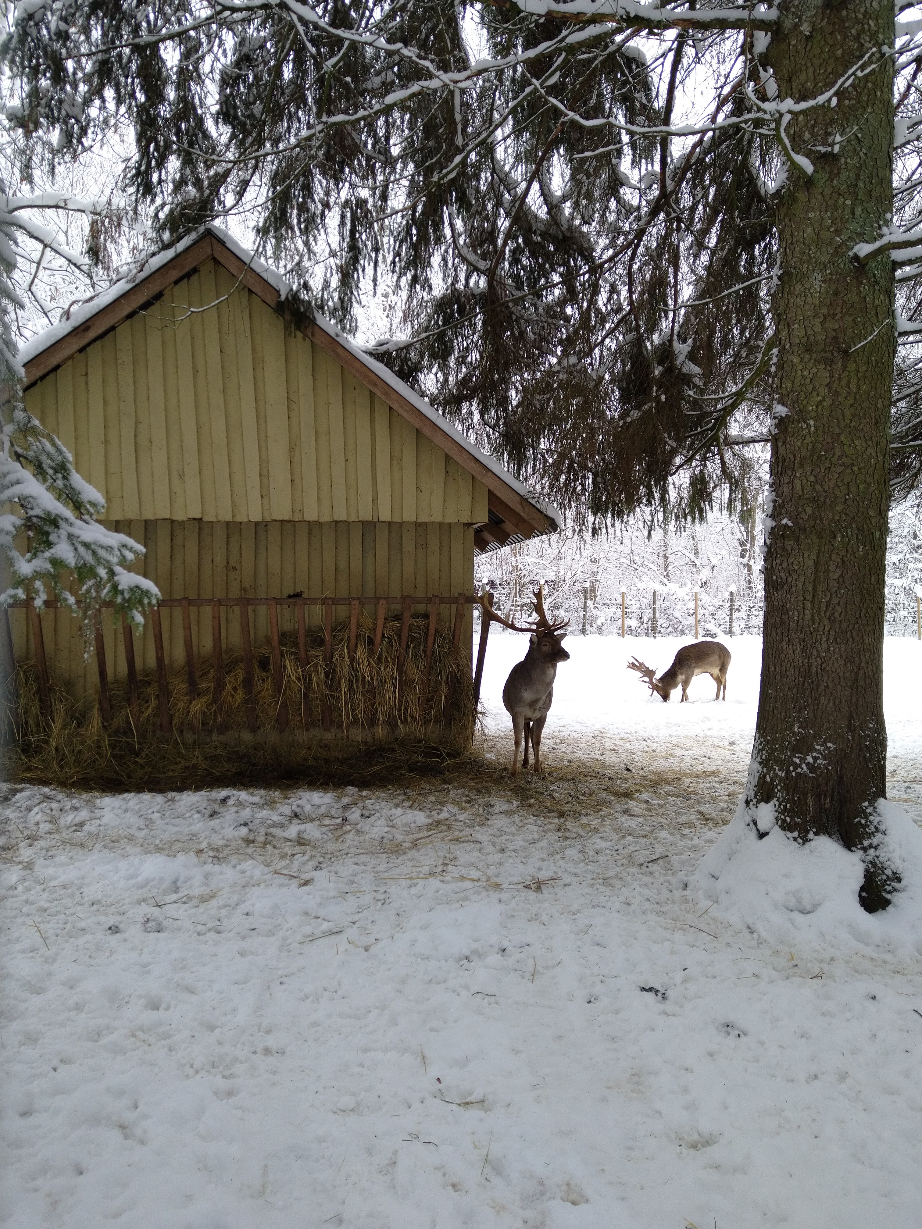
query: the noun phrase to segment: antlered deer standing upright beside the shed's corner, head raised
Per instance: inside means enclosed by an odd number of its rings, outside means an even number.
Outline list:
[[[515,750],[513,752],[513,775],[519,774],[519,748],[525,741],[525,756],[522,768],[529,767],[529,744],[535,751],[535,772],[541,772],[541,731],[554,698],[554,677],[557,664],[569,661],[570,655],[561,644],[564,635],[556,633],[562,627],[567,627],[569,619],[561,623],[551,623],[545,614],[545,586],[542,585],[535,594],[535,611],[537,621],[526,627],[510,623],[499,614],[489,611],[489,618],[494,618],[503,627],[511,628],[513,632],[531,632],[529,651],[522,661],[513,666],[503,688],[503,704],[513,718],[513,731],[515,734]],[[487,608],[484,606],[484,616]]]

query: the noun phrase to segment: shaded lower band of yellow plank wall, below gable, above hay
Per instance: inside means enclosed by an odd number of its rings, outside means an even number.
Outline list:
[[[116,521],[111,528],[143,542],[146,554],[136,570],[155,581],[164,597],[284,597],[301,590],[305,596],[374,599],[381,596],[455,595],[470,592],[473,578],[473,530],[462,524],[348,522],[348,521]],[[393,608],[391,614],[398,613]],[[316,626],[321,612],[306,610]],[[294,630],[294,607],[280,611],[283,630]],[[347,607],[334,607],[334,618],[348,617]],[[268,642],[268,613],[254,611],[254,644]],[[443,622],[454,622],[454,608],[443,607]],[[17,660],[33,656],[32,634],[25,611],[11,611],[14,650]],[[182,669],[186,653],[182,616],[162,610],[164,644],[170,667]],[[223,613],[225,648],[240,648],[236,611]],[[211,612],[192,612],[197,651],[211,651]],[[59,682],[70,681],[75,697],[98,689],[96,655],[84,660],[80,623],[65,611],[45,611],[42,629],[48,669]],[[120,628],[106,617],[106,662],[111,678],[125,675]],[[470,651],[472,614],[465,617],[463,644]],[[149,624],[135,633],[139,670],[154,670],[154,640]]]

